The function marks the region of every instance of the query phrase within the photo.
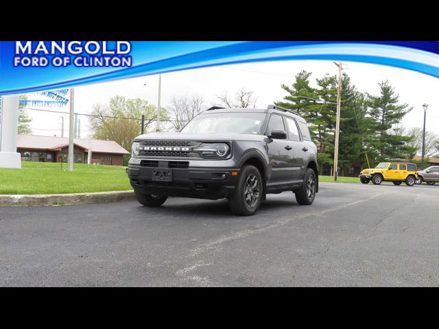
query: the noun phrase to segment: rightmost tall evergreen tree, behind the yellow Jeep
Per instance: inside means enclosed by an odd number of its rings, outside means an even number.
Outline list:
[[[375,132],[375,141],[371,141],[375,149],[374,158],[376,162],[405,159],[416,152],[408,145],[412,137],[392,134],[392,126],[400,123],[413,108],[407,103],[399,103],[399,95],[395,95],[388,81],[381,82],[379,86],[380,95],[368,95],[368,114],[373,120],[372,129]]]

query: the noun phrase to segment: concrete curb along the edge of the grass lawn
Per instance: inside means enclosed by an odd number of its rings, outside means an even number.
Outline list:
[[[96,193],[0,195],[0,207],[65,206],[69,204],[106,204],[135,200],[134,191]]]

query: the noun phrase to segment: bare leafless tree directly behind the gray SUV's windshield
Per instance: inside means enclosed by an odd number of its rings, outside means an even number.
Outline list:
[[[191,98],[174,95],[169,104],[169,113],[173,119],[171,124],[174,128],[182,129],[193,117],[202,112],[203,103],[203,97],[200,95],[192,95]]]

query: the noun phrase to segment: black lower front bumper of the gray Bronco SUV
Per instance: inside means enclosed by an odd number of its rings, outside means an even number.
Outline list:
[[[153,180],[154,171],[161,169],[171,171],[170,182]],[[233,194],[240,169],[220,167],[168,169],[129,164],[126,171],[131,186],[141,193],[216,200]],[[232,171],[237,172],[237,175],[232,175]]]

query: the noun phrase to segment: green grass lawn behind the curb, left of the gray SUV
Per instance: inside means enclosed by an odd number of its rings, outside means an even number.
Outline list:
[[[0,168],[0,194],[57,194],[127,191],[125,167],[23,161],[21,169]]]

